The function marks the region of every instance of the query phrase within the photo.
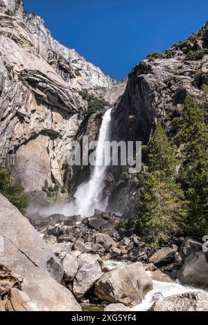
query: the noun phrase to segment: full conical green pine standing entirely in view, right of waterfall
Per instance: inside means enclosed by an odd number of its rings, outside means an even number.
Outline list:
[[[180,234],[186,215],[183,192],[176,183],[177,160],[166,132],[157,126],[149,149],[149,169],[143,175],[143,189],[137,207],[137,231],[152,245]]]

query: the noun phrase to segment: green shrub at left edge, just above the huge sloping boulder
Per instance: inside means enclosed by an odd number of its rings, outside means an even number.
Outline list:
[[[0,192],[19,209],[21,214],[26,214],[28,199],[23,194],[23,187],[14,180],[10,169],[0,168]]]

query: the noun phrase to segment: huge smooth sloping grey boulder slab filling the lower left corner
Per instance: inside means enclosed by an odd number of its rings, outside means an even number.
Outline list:
[[[63,270],[57,257],[28,220],[1,194],[0,224],[0,263],[24,277],[21,288],[34,301],[37,310],[80,310],[70,291],[58,283]]]

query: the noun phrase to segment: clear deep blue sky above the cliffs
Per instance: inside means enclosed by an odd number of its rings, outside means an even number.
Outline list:
[[[166,50],[208,20],[200,0],[24,0],[53,37],[116,80],[148,53]]]

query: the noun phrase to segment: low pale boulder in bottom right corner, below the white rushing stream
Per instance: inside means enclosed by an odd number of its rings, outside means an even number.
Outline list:
[[[207,293],[183,293],[159,299],[149,311],[207,311]]]

